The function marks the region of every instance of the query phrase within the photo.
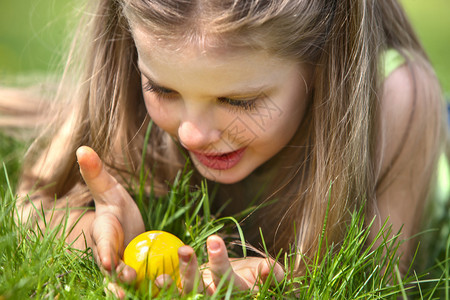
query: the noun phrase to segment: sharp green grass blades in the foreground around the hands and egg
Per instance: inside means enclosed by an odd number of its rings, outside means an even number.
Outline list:
[[[91,251],[74,250],[58,237],[68,231],[64,222],[58,228],[45,232],[14,222],[14,182],[17,180],[19,158],[24,147],[22,143],[5,136],[0,136],[0,145],[3,146],[0,148],[0,157],[8,158],[0,173],[0,299],[110,298],[104,293],[104,278],[93,261]],[[193,246],[199,259],[205,262],[204,242],[207,236],[217,231],[239,232],[235,219],[215,219],[209,210],[211,199],[207,189],[205,186],[192,186],[190,174],[187,167],[172,184],[170,193],[156,198],[140,189],[148,181],[148,173],[143,171],[140,182],[133,190],[147,229],[161,229],[176,234]],[[324,259],[304,258],[308,266],[304,276],[291,276],[293,255],[288,253],[280,259],[284,262],[285,279],[272,287],[260,285],[257,294],[235,291],[231,285],[223,282],[223,289],[213,297],[192,294],[180,298],[450,299],[450,239],[443,251],[445,256],[439,257],[434,266],[429,266],[429,269],[419,274],[411,269],[400,277],[397,269],[397,238],[385,238],[391,235],[389,228],[383,227],[379,233],[380,246],[371,250],[371,245],[367,245],[368,230],[364,228],[363,221],[361,214],[353,214],[340,247],[327,246],[326,241],[322,241],[322,247],[326,247]],[[129,299],[143,296],[133,287],[124,288]],[[178,297],[173,289],[168,289],[158,299]]]

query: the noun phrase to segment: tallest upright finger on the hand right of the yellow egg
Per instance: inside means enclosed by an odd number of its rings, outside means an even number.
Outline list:
[[[241,290],[247,289],[245,281],[233,271],[225,242],[219,236],[212,235],[206,240],[206,246],[208,248],[209,267],[216,288],[222,278],[226,276],[226,280],[228,282],[233,281],[235,287]]]

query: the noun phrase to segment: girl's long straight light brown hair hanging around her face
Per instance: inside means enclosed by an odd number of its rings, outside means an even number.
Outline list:
[[[329,243],[342,238],[349,211],[376,211],[375,193],[389,183],[379,174],[376,143],[382,93],[382,53],[389,48],[404,55],[417,85],[417,70],[434,78],[422,47],[401,7],[394,0],[96,0],[89,1],[76,32],[67,70],[57,95],[61,111],[29,152],[22,190],[40,189],[47,208],[54,195],[70,206],[91,199],[82,187],[75,150],[89,145],[108,167],[130,183],[142,160],[145,129],[150,121],[142,99],[132,28],[144,26],[155,43],[183,49],[250,48],[314,66],[311,104],[294,139],[271,166],[280,171],[265,193],[272,205],[271,247],[312,257],[329,205]],[[430,115],[423,130],[429,141],[417,141],[434,155],[426,163],[434,170],[441,131],[440,89],[432,79]],[[410,122],[416,117],[414,109]],[[403,137],[408,138],[407,134]],[[49,141],[52,143],[49,144]],[[50,145],[50,146],[49,146]],[[401,155],[402,149],[398,149]],[[279,158],[282,157],[282,158]],[[286,157],[288,159],[286,159]],[[183,166],[177,144],[154,126],[145,158],[163,193]],[[392,163],[388,172],[402,166]],[[33,186],[39,179],[39,184]],[[378,179],[378,180],[377,180]],[[385,180],[386,179],[386,180]],[[42,189],[42,187],[47,188]],[[423,197],[426,197],[423,191]],[[57,205],[64,206],[65,201]],[[263,213],[264,210],[261,210]],[[259,212],[256,211],[255,214]],[[294,234],[295,228],[295,234]],[[263,231],[264,233],[264,231]],[[300,259],[296,271],[302,272]]]

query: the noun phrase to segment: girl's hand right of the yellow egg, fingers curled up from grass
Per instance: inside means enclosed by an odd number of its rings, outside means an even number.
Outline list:
[[[247,257],[229,259],[224,241],[217,235],[212,235],[206,241],[209,262],[199,270],[197,257],[189,246],[180,247],[178,256],[180,259],[180,274],[182,293],[188,294],[196,288],[196,282],[200,280],[198,292],[206,291],[211,295],[217,290],[221,279],[226,276],[225,285],[229,282],[239,290],[258,290],[258,284],[268,280],[273,268],[273,277],[277,282],[284,278],[281,265],[272,259]],[[272,282],[271,284],[275,284]]]

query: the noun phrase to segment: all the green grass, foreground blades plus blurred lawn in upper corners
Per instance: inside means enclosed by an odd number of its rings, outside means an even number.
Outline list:
[[[436,67],[443,88],[450,92],[450,57],[445,47],[450,46],[450,2],[448,0],[402,0],[411,16],[425,48]],[[2,0],[0,2],[0,81],[23,74],[58,72],[58,60],[63,42],[70,31],[75,1],[57,0]],[[69,24],[69,25],[68,25]],[[92,253],[76,251],[58,238],[69,228],[45,233],[17,225],[16,196],[14,194],[21,158],[26,145],[0,132],[0,300],[6,299],[99,299],[112,298],[105,294],[107,282],[93,262]],[[180,174],[172,186],[170,196],[154,198],[132,190],[139,204],[147,229],[167,230],[196,249],[205,261],[204,241],[214,232],[237,234],[234,218],[217,219],[209,212],[209,198],[204,187],[192,187],[189,169]],[[145,176],[143,176],[145,178]],[[139,183],[144,184],[144,179]],[[144,201],[151,199],[151,201]],[[151,206],[144,203],[150,203]],[[157,213],[155,213],[157,212]],[[199,214],[199,212],[202,212]],[[237,217],[236,217],[237,218]],[[366,248],[367,229],[362,217],[355,212],[348,227],[347,237],[338,249],[327,248],[323,260],[306,262],[308,272],[292,277],[286,255],[285,279],[269,287],[259,286],[257,294],[235,291],[224,283],[219,294],[186,295],[185,299],[447,299],[450,279],[450,237],[442,231],[424,233],[424,240],[439,237],[439,249],[433,244],[421,245],[413,268],[400,275],[397,267],[397,240],[383,238],[389,232],[380,232],[381,245]],[[448,223],[448,216],[444,219]],[[436,225],[436,224],[435,224]],[[442,224],[437,224],[440,226]],[[447,224],[448,226],[448,224]],[[325,243],[323,243],[325,245]],[[324,246],[325,247],[325,246]],[[338,250],[337,250],[338,249]],[[432,249],[432,251],[430,250]],[[337,253],[336,253],[337,252]],[[431,257],[427,254],[433,252]],[[142,296],[131,286],[124,286],[127,297]],[[147,291],[148,292],[148,291]],[[171,289],[159,299],[178,298]]]

